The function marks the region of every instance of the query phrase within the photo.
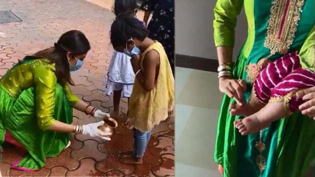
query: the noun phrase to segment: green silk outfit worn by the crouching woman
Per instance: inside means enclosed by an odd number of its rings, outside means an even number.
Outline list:
[[[69,84],[57,83],[54,69],[46,59],[26,60],[0,79],[0,147],[8,130],[26,148],[29,156],[15,165],[19,169],[39,169],[68,143],[69,133],[47,129],[56,120],[71,123],[79,98]]]

